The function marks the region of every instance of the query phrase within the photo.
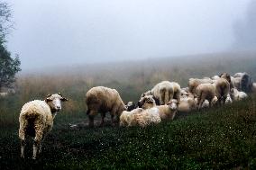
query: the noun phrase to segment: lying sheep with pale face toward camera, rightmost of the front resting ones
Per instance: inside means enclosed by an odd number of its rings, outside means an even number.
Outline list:
[[[160,120],[173,120],[178,112],[178,101],[171,99],[166,105],[156,106],[159,109]]]

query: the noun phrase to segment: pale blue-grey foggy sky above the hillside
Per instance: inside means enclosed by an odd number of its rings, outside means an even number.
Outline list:
[[[22,68],[224,51],[250,0],[8,0]]]

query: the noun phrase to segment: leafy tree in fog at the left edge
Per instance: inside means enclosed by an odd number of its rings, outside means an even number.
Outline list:
[[[0,92],[3,87],[11,87],[15,82],[15,75],[21,71],[21,61],[18,55],[11,58],[6,49],[6,34],[12,29],[11,10],[6,3],[0,1]]]

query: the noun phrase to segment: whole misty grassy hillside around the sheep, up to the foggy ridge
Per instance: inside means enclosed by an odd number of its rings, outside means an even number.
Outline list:
[[[67,71],[69,70],[69,71]],[[0,169],[256,168],[255,94],[241,103],[209,111],[178,115],[175,121],[141,128],[69,129],[87,122],[84,96],[96,85],[116,88],[123,101],[137,101],[161,80],[187,86],[189,77],[222,72],[248,72],[256,80],[256,53],[208,54],[94,65],[59,67],[18,76],[16,94],[0,98]],[[23,161],[18,139],[18,116],[24,103],[61,92],[68,103],[57,115],[44,142],[41,158]],[[26,150],[32,157],[32,141]]]

